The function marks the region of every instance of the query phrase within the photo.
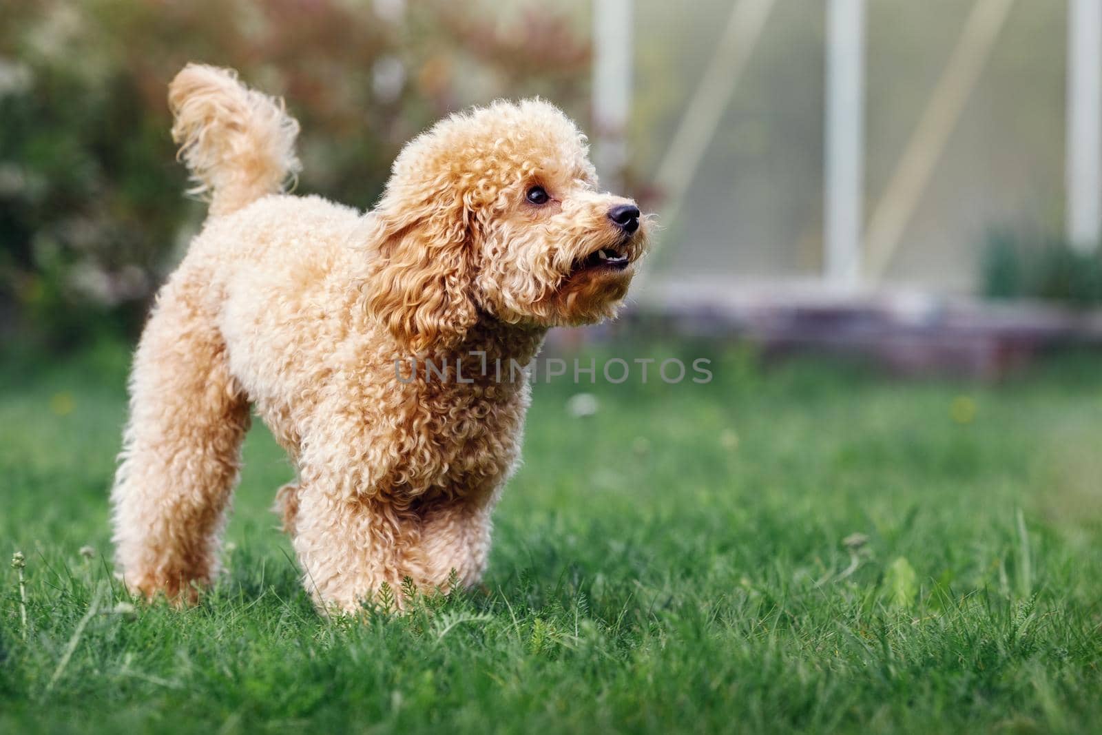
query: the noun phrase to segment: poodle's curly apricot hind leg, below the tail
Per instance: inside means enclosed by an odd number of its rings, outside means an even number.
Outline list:
[[[249,426],[248,401],[198,290],[174,279],[145,326],[111,493],[117,560],[128,586],[188,601],[192,583],[207,583],[217,571],[218,537]]]

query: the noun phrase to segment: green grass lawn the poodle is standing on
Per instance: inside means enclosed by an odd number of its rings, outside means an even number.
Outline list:
[[[485,588],[357,621],[300,587],[262,428],[225,579],[116,610],[126,361],[0,366],[0,732],[1102,727],[1096,357],[981,387],[732,352],[585,419],[540,385]]]

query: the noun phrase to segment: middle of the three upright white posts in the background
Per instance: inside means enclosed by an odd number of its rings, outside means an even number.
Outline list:
[[[853,289],[861,280],[864,87],[865,0],[829,0],[823,274],[840,289]]]

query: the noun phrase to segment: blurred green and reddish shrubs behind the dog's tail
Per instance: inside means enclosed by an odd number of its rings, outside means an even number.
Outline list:
[[[300,191],[360,207],[447,111],[542,95],[582,117],[572,19],[477,0],[22,0],[0,10],[0,331],[132,334],[204,207],[183,198],[165,87],[188,61],[282,94]],[[493,19],[491,21],[489,19]]]

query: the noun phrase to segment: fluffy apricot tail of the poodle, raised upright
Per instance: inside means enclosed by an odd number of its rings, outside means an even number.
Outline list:
[[[283,190],[301,164],[294,154],[299,122],[283,100],[247,88],[237,73],[188,64],[169,85],[177,158],[192,172],[190,194],[227,215]]]

